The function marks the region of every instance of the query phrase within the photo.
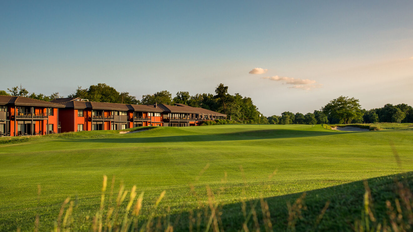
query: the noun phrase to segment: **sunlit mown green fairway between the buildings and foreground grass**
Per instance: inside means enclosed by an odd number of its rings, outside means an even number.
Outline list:
[[[234,204],[241,197],[287,195],[413,169],[412,130],[221,125],[115,133],[85,131],[1,144],[0,231],[33,230],[37,213],[40,228],[49,230],[69,196],[76,199],[76,228],[89,231],[103,175],[109,186],[115,176],[115,192],[121,182],[126,189],[136,185],[138,194],[144,191],[144,211],[166,190],[161,209],[180,213],[197,207],[197,197],[207,200],[207,185],[217,201]]]

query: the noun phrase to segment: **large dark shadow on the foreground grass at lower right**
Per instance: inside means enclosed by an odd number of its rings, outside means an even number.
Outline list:
[[[387,217],[386,201],[388,200],[394,204],[395,199],[401,197],[396,193],[398,191],[396,180],[403,180],[403,185],[413,191],[413,185],[409,185],[413,182],[413,172],[367,180],[373,199],[370,207],[373,208],[379,222]],[[296,218],[295,231],[354,231],[354,223],[356,220],[361,220],[361,212],[364,210],[363,197],[365,192],[363,180],[306,192],[300,215]],[[302,196],[303,192],[263,199],[268,202],[268,211],[271,213],[271,223],[275,231],[287,230],[289,216],[291,215],[291,207],[289,211],[287,204],[293,205]],[[328,208],[322,220],[316,223],[326,202],[329,202]],[[253,199],[246,202],[245,205],[247,214],[251,212],[251,206],[256,205],[254,209],[259,225],[261,225],[261,230],[265,231],[260,199]],[[239,231],[242,229],[242,224],[245,221],[242,203],[224,205],[220,212],[222,213],[221,225],[223,230]],[[193,214],[196,215],[196,211]],[[188,218],[190,217],[190,213],[172,215],[171,221],[175,220],[174,230],[188,231]],[[407,220],[407,218],[404,220]],[[252,219],[247,224],[250,229],[254,228]],[[204,225],[201,224],[199,229],[204,231]]]

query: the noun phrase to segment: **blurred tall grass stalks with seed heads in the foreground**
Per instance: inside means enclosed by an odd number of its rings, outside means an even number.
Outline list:
[[[206,167],[207,168],[207,167]],[[242,168],[241,168],[242,170]],[[131,190],[126,190],[123,184],[119,185],[117,195],[115,195],[115,178],[112,178],[110,190],[107,191],[107,176],[103,176],[102,193],[100,196],[99,208],[93,214],[91,223],[84,225],[82,230],[93,232],[146,232],[146,231],[165,231],[173,232],[173,230],[185,228],[190,232],[200,231],[302,231],[303,227],[297,227],[297,223],[305,222],[305,231],[318,231],[318,225],[323,220],[323,217],[328,214],[330,201],[325,202],[324,207],[319,211],[315,220],[311,221],[304,218],[304,213],[307,211],[306,192],[302,193],[294,202],[287,201],[287,214],[285,218],[272,217],[270,211],[273,210],[268,205],[265,198],[247,200],[246,197],[240,199],[240,211],[244,217],[243,223],[239,225],[224,225],[222,216],[226,211],[223,210],[223,205],[216,200],[218,192],[213,192],[209,186],[205,186],[205,192],[208,196],[207,201],[199,200],[198,207],[190,210],[188,213],[180,215],[171,215],[169,207],[163,206],[162,199],[166,195],[163,191],[157,200],[151,206],[147,206],[145,213],[142,214],[142,205],[144,202],[144,192],[138,195],[136,186]],[[370,231],[411,231],[413,229],[413,195],[408,187],[406,180],[401,181],[397,177],[394,178],[394,191],[398,197],[394,199],[386,199],[386,213],[375,212],[375,203],[372,197],[372,190],[368,182],[364,182],[365,193],[363,202],[360,205],[360,217],[354,218],[354,223],[351,228],[356,232]],[[38,186],[38,195],[40,196],[40,186]],[[192,192],[194,195],[200,193]],[[166,209],[166,210],[165,210]],[[78,217],[74,216],[76,211],[81,211],[76,201],[67,197],[60,207],[54,227],[50,230],[54,232],[70,232],[79,229],[76,226]],[[86,219],[89,216],[86,216]],[[187,217],[187,219],[180,217]],[[277,220],[285,220],[285,227],[273,227]],[[180,223],[187,225],[180,225]],[[39,214],[34,222],[34,231],[39,228]],[[18,228],[17,231],[20,231]]]

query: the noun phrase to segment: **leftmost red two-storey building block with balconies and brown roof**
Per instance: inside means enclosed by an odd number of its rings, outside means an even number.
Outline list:
[[[20,96],[0,96],[0,135],[45,135],[59,132],[64,105]]]

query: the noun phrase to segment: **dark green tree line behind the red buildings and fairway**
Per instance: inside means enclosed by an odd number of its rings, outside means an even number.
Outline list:
[[[25,96],[43,101],[52,101],[59,97],[59,93],[49,96],[45,94],[29,93],[26,88],[20,86],[12,87],[7,91],[0,90],[0,95]],[[99,83],[90,85],[89,88],[78,88],[68,97],[78,97],[96,102],[143,104],[150,105],[162,103],[173,105],[181,103],[192,107],[200,107],[220,112],[227,115],[227,119],[239,123],[261,123],[261,124],[349,124],[349,123],[375,123],[375,122],[413,122],[413,108],[401,103],[398,105],[386,104],[382,108],[370,110],[362,109],[359,100],[347,96],[339,96],[328,102],[320,110],[308,112],[305,115],[297,112],[282,112],[281,115],[260,117],[251,98],[239,93],[228,94],[228,86],[218,84],[215,94],[203,93],[190,95],[188,91],[179,91],[173,97],[167,91],[159,91],[154,94],[142,95],[142,100],[136,99],[128,92],[119,92],[114,87]]]

